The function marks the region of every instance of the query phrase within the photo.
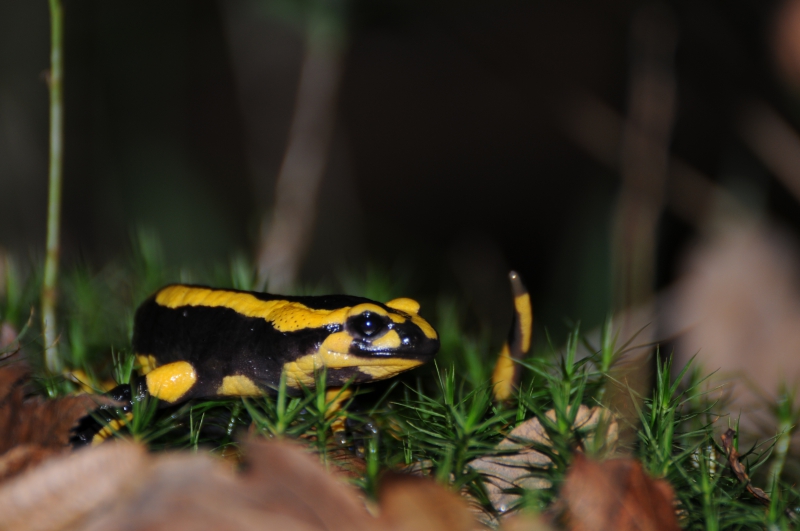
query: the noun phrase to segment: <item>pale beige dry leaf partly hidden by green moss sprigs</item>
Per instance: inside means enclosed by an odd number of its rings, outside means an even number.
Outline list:
[[[606,416],[604,412],[605,410],[599,407],[589,409],[581,405],[575,417],[575,428],[587,430],[591,437],[591,430]],[[546,415],[550,420],[556,418],[553,410],[548,411]],[[617,435],[617,423],[612,421],[608,424],[606,444],[613,446]],[[535,469],[545,469],[552,463],[547,455],[536,450],[536,446],[549,447],[551,442],[542,423],[534,417],[514,428],[495,447],[498,451],[504,452],[503,455],[480,457],[470,461],[469,466],[483,475],[486,493],[499,513],[505,513],[519,500],[518,494],[506,492],[509,489],[550,488],[550,481],[533,475]],[[505,453],[512,451],[514,453]]]

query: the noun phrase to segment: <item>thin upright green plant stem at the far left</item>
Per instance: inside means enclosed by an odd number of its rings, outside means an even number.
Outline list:
[[[42,330],[44,334],[45,367],[51,374],[61,371],[58,357],[56,326],[56,300],[58,283],[58,255],[61,229],[61,173],[64,152],[64,103],[62,80],[64,75],[64,7],[61,0],[50,3],[50,164],[47,199],[47,254],[42,281]]]

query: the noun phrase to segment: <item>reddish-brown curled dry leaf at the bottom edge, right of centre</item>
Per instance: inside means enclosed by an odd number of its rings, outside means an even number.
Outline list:
[[[680,531],[674,493],[639,461],[576,454],[561,488],[571,531]]]

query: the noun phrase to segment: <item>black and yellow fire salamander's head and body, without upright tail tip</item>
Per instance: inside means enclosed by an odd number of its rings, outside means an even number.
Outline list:
[[[313,388],[323,368],[328,387],[391,378],[430,361],[439,338],[412,299],[381,304],[175,284],[136,311],[133,348],[141,377],[109,395],[131,403],[133,387],[169,406],[273,393],[282,374],[297,393]],[[74,444],[100,443],[121,425],[90,424],[78,426]]]

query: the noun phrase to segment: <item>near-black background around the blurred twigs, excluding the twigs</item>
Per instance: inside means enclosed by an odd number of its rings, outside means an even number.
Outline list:
[[[296,17],[272,4],[65,0],[64,262],[118,258],[137,228],[158,234],[177,265],[253,256],[304,49]],[[573,93],[625,115],[631,21],[647,4],[350,4],[301,282],[402,270],[409,295],[457,292],[475,315],[505,323],[515,268],[540,324],[599,323],[612,308],[620,178],[563,118]],[[754,98],[797,121],[791,72],[776,67],[782,5],[657,7],[678,37],[672,153],[712,181],[744,183],[755,208],[797,229],[796,200],[735,125]],[[44,247],[48,32],[43,0],[0,2],[0,245],[21,256]],[[697,230],[663,211],[657,287]]]

